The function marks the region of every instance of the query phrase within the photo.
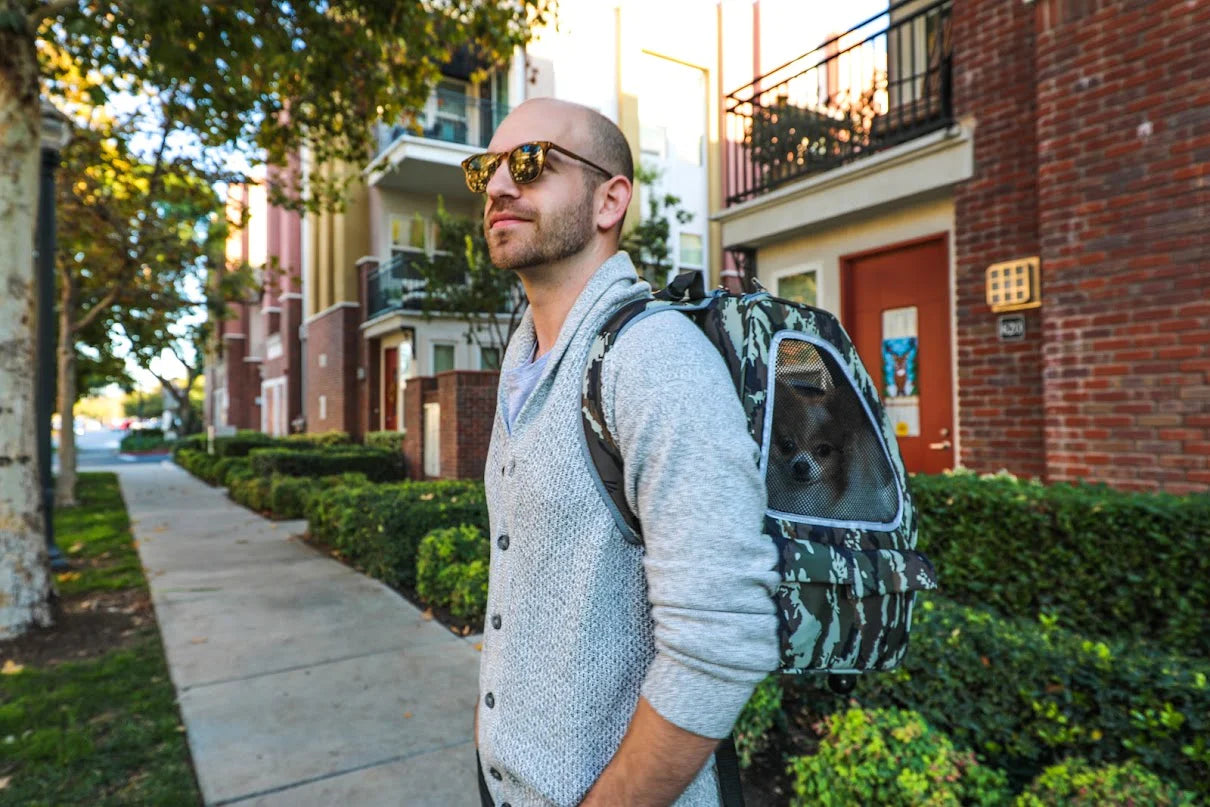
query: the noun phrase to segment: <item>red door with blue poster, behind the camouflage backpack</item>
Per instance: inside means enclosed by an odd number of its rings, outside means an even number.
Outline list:
[[[949,277],[944,235],[841,259],[843,325],[910,472],[953,467]]]

